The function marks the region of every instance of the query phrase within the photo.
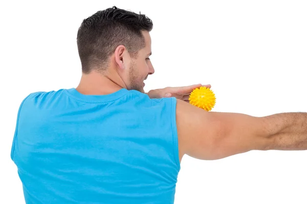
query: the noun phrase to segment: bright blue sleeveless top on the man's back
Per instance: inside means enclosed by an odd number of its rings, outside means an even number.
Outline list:
[[[176,98],[31,93],[19,107],[11,159],[26,203],[173,203]]]

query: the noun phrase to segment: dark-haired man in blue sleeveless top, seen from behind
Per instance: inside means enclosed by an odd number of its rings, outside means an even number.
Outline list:
[[[184,155],[307,149],[306,113],[206,112],[186,103],[201,85],[144,93],[151,29],[116,7],[84,19],[78,87],[23,100],[11,158],[27,203],[173,203]]]

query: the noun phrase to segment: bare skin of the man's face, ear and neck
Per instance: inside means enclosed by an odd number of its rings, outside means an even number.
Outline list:
[[[144,80],[155,73],[150,62],[151,38],[143,32],[145,47],[140,49],[136,59],[130,57],[124,45],[119,45],[109,59],[109,67],[104,74],[92,71],[82,74],[76,88],[82,94],[109,94],[122,88],[144,93]]]

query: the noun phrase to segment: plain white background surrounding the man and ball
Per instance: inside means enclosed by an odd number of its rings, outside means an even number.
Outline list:
[[[156,73],[145,91],[211,84],[212,111],[307,112],[306,1],[7,1],[0,5],[0,203],[24,203],[10,159],[16,116],[31,92],[73,88],[77,30],[117,6],[152,19]],[[250,151],[216,161],[185,156],[179,203],[307,203],[307,151]]]

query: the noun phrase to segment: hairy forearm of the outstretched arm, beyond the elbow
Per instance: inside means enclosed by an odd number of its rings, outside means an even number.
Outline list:
[[[279,113],[264,117],[269,149],[306,150],[307,113]]]

